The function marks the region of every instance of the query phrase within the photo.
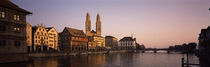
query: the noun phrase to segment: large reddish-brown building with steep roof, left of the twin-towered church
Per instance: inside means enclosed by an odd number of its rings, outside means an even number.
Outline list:
[[[65,27],[59,33],[59,41],[61,51],[78,52],[87,50],[88,39],[82,30]]]

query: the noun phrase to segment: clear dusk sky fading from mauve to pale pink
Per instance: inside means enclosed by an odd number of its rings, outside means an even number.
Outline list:
[[[43,24],[62,32],[71,27],[85,32],[87,12],[95,30],[101,16],[102,36],[118,40],[131,36],[147,48],[167,48],[198,42],[210,26],[210,0],[10,0],[32,12],[27,22]]]

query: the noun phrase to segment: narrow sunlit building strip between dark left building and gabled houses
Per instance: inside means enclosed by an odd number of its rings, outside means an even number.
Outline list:
[[[32,26],[28,22],[26,22],[26,45],[27,52],[32,51]]]

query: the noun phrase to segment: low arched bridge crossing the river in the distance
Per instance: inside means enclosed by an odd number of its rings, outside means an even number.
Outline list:
[[[173,50],[170,50],[168,48],[147,48],[147,49],[141,49],[142,53],[145,51],[153,51],[154,53],[157,53],[157,51],[167,51],[167,53],[170,53]]]

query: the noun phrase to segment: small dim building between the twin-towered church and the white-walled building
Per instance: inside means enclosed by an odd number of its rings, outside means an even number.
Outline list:
[[[118,48],[118,40],[113,36],[105,37],[106,48],[108,49],[117,49]]]

